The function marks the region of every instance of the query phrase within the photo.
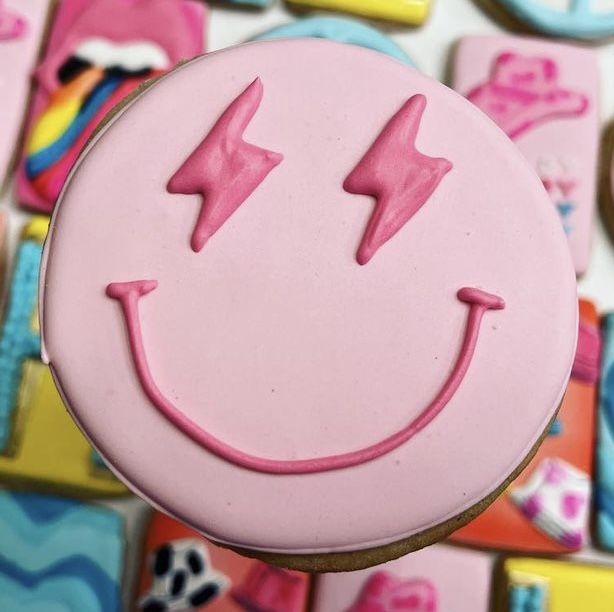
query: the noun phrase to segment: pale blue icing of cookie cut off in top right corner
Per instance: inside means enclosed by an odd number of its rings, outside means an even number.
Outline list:
[[[519,19],[547,34],[584,39],[614,34],[614,11],[592,11],[592,0],[572,0],[567,11],[545,6],[544,0],[499,2]]]

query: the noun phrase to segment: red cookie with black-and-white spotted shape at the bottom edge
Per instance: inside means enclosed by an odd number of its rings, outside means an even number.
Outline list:
[[[306,574],[247,559],[156,512],[145,536],[137,609],[143,612],[304,612]]]

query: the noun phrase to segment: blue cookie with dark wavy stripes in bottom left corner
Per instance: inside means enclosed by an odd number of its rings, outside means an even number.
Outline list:
[[[123,520],[59,497],[0,492],[0,610],[120,612]]]

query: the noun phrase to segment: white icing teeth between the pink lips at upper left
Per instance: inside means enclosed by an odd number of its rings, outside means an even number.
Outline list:
[[[119,67],[128,72],[170,68],[164,49],[145,41],[122,44],[104,38],[90,38],[81,43],[75,55],[100,68]]]

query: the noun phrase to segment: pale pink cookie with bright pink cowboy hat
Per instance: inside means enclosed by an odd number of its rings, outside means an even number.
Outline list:
[[[590,258],[599,151],[594,51],[509,36],[458,45],[454,89],[514,140],[561,218],[576,272]]]

